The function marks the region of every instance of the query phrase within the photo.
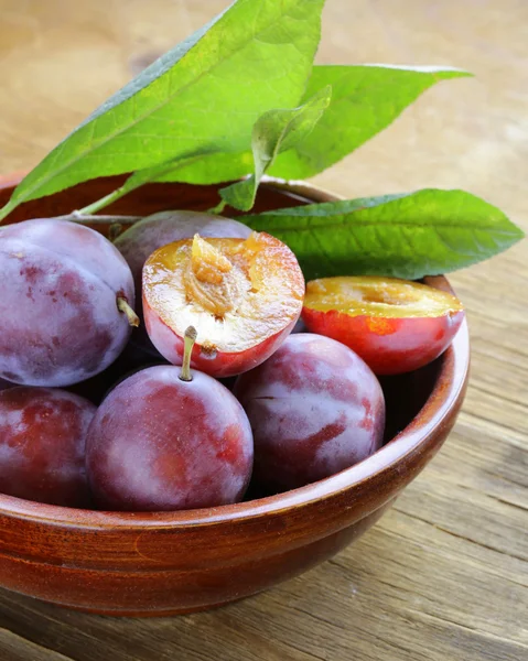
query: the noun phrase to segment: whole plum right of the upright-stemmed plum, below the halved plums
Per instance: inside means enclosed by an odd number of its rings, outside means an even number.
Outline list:
[[[327,337],[291,335],[234,393],[254,432],[256,484],[284,491],[323,479],[382,444],[385,400],[368,366]]]

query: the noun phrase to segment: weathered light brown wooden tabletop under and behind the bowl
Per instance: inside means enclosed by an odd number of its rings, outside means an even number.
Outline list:
[[[0,173],[35,164],[132,73],[227,0],[0,0]],[[528,229],[528,2],[328,0],[320,62],[450,64],[316,177],[347,196],[463,187]],[[528,242],[456,273],[472,381],[444,448],[381,521],[267,594],[158,620],[0,593],[7,661],[520,661],[528,658]]]

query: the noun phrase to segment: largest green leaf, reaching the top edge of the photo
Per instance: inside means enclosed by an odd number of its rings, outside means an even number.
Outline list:
[[[142,72],[18,186],[10,208],[203,149],[240,152],[257,118],[299,102],[324,0],[238,0]]]

